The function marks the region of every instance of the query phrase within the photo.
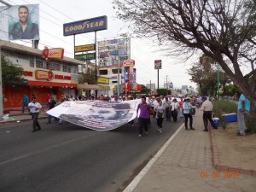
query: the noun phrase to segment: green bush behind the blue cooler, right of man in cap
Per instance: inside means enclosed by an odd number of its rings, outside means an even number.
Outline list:
[[[218,100],[217,102],[213,102],[213,113],[219,119],[219,124],[225,129],[226,128],[226,121],[223,118],[223,114],[225,113],[236,113],[237,105],[235,102]]]

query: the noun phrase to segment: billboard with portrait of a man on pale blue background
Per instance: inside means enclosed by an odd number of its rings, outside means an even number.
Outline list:
[[[0,7],[0,39],[38,40],[39,4],[14,5],[10,8]],[[26,25],[23,30],[22,25]]]

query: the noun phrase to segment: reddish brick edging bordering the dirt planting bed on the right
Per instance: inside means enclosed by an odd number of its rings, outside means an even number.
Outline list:
[[[217,143],[215,140],[215,133],[212,130],[212,127],[209,128],[209,131],[211,133],[211,141],[212,141],[212,161],[213,161],[213,166],[218,172],[239,172],[244,175],[251,175],[256,177],[256,170],[247,170],[247,169],[242,169],[242,168],[237,168],[237,167],[231,167],[231,166],[224,166],[219,163],[218,161],[218,147]]]

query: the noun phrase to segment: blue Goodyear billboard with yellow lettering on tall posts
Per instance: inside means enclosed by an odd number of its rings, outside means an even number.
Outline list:
[[[106,15],[88,20],[79,20],[63,24],[63,35],[75,35],[85,32],[96,32],[108,29],[108,17]]]

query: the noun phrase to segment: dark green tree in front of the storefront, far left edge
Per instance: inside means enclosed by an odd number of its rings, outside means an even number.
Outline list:
[[[23,68],[15,65],[6,57],[1,57],[2,63],[2,82],[4,85],[24,84],[22,78]]]

